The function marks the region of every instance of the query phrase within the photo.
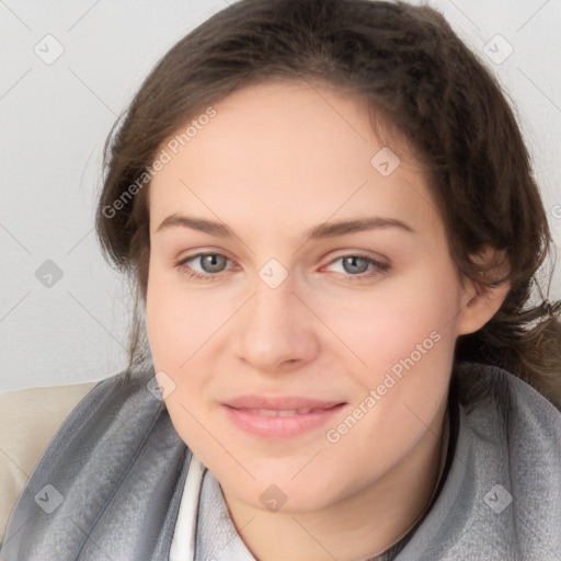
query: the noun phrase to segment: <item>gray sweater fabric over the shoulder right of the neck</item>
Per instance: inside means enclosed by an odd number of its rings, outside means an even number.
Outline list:
[[[451,382],[449,471],[400,559],[552,559],[561,550],[561,412],[502,368],[459,363]]]

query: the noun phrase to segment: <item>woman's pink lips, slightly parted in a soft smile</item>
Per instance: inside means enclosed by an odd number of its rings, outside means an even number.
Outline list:
[[[265,438],[286,438],[317,428],[344,405],[341,401],[264,396],[241,396],[222,403],[236,426]]]

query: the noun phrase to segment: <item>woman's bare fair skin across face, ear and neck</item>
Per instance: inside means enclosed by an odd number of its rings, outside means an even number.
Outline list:
[[[461,279],[407,141],[391,141],[401,163],[390,175],[370,164],[385,145],[358,99],[268,81],[214,107],[217,115],[150,185],[146,320],[159,381],[175,385],[165,404],[220,482],[256,559],[368,559],[427,505],[442,467],[456,339],[489,321],[508,286],[485,293]],[[234,236],[157,231],[174,214],[224,222]],[[385,227],[306,241],[316,225],[367,216],[414,232]],[[227,260],[176,266],[199,251]],[[359,260],[353,270],[341,259],[357,253],[390,267]],[[288,273],[276,288],[259,274],[272,259]],[[188,267],[215,277],[194,278]],[[431,333],[439,336],[431,350],[329,442],[328,430]],[[346,405],[302,435],[263,438],[232,425],[220,405],[247,393]],[[271,484],[286,495],[276,512],[260,501]]]

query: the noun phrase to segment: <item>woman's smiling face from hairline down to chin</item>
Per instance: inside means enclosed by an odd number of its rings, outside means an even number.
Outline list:
[[[267,82],[214,108],[150,185],[154,368],[225,492],[321,508],[434,438],[469,295],[424,176],[355,99]]]

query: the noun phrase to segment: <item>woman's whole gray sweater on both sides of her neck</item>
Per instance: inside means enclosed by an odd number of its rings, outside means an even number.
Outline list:
[[[11,513],[1,561],[169,559],[192,456],[152,376],[107,378],[70,413]],[[561,412],[512,374],[462,363],[449,413],[431,508],[377,561],[561,561]],[[199,492],[195,559],[236,561],[243,543],[209,472]]]

